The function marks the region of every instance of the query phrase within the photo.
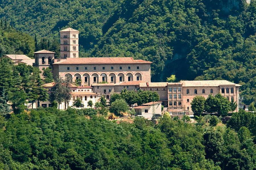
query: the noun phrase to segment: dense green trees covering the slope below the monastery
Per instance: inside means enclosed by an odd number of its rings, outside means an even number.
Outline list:
[[[210,128],[164,114],[158,124],[141,117],[133,124],[117,124],[79,113],[53,107],[11,114],[8,120],[0,116],[0,169],[255,168],[255,132],[245,122],[235,130]],[[240,114],[234,114],[235,121]],[[255,116],[251,118],[255,124]],[[235,121],[228,126],[233,128]]]

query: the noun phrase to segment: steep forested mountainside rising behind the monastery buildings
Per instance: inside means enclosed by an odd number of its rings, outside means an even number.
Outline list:
[[[80,57],[146,59],[152,81],[226,79],[243,85],[245,103],[256,99],[255,0],[0,0],[0,18],[51,50],[72,27]]]

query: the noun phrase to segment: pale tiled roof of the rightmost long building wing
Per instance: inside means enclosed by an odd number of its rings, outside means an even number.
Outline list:
[[[192,80],[192,81],[180,81],[183,87],[203,87],[203,86],[221,86],[221,85],[233,85],[241,86],[240,84],[232,83],[227,80]]]

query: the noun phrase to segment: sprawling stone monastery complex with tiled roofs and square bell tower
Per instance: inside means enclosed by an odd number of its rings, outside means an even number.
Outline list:
[[[51,68],[54,77],[69,77],[73,82],[81,80],[80,87],[72,86],[69,105],[76,98],[80,98],[85,106],[89,100],[97,102],[102,95],[110,99],[113,92],[119,93],[123,88],[156,91],[164,110],[169,112],[192,112],[190,103],[196,95],[207,98],[209,94],[220,93],[239,103],[239,84],[226,80],[151,82],[152,62],[131,57],[79,58],[79,31],[67,28],[59,32],[60,58],[54,59],[55,52],[48,50],[34,52],[33,66],[41,71]],[[44,86],[50,88],[52,84]],[[49,107],[50,103],[43,102],[42,106]],[[143,108],[137,109],[144,113]]]

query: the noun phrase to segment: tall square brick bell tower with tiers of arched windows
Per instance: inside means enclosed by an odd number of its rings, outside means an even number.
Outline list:
[[[60,33],[60,57],[61,58],[78,58],[79,31],[72,28],[66,28],[59,31],[59,33]]]

